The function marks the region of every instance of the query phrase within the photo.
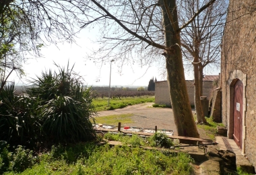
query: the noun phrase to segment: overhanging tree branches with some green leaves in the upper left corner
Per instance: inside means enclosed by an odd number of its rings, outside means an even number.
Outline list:
[[[74,41],[80,29],[81,2],[58,0],[0,1],[0,71],[1,86],[9,73],[23,73],[28,55],[40,56],[46,44]]]

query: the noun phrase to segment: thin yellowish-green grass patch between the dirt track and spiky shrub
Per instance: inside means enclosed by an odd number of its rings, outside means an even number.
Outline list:
[[[96,117],[96,123],[102,123],[105,125],[118,125],[121,122],[123,125],[133,123],[131,119],[133,114],[117,114],[117,115],[109,115],[109,116],[100,116]]]

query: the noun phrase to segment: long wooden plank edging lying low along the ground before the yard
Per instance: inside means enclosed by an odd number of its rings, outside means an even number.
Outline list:
[[[118,132],[115,129],[96,129],[96,131]],[[133,132],[133,131],[121,131],[120,133],[146,135],[146,136],[154,135],[154,133],[143,133],[143,132]],[[183,139],[183,140],[189,140],[189,141],[212,142],[211,140],[208,140],[208,139],[201,139],[201,138],[194,138],[194,137],[183,137],[183,136],[178,136],[178,135],[167,135],[167,137],[170,139]]]

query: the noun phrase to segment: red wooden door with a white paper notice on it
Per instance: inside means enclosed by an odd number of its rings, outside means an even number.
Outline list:
[[[234,141],[242,149],[243,133],[243,82],[238,79],[234,84]]]

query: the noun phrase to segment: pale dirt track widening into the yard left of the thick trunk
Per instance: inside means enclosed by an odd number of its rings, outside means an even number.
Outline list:
[[[115,114],[133,114],[131,119],[134,121],[131,127],[170,129],[177,135],[177,129],[174,124],[172,109],[153,108],[154,103],[136,104],[117,110],[106,110],[98,112],[98,116],[108,116]]]

